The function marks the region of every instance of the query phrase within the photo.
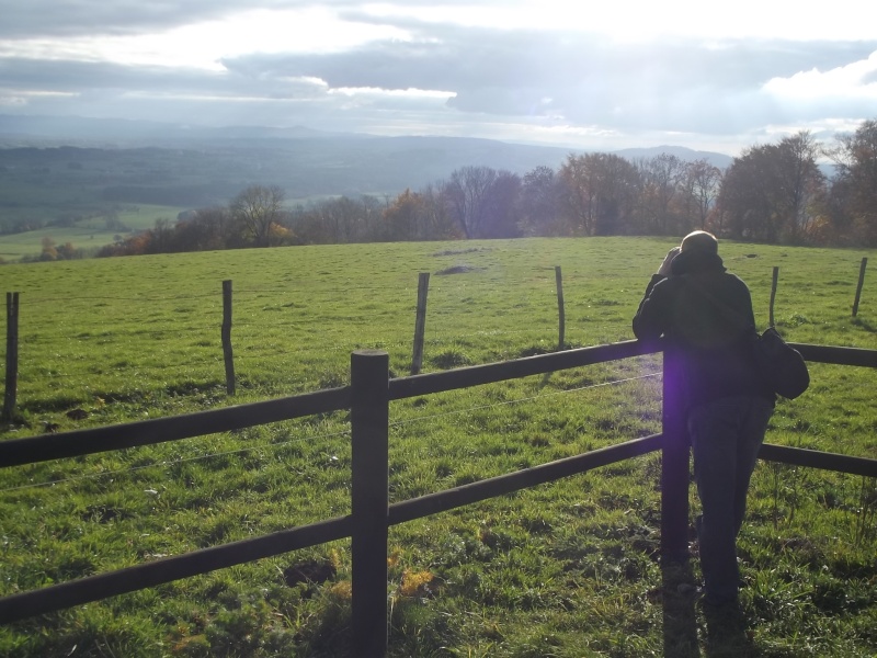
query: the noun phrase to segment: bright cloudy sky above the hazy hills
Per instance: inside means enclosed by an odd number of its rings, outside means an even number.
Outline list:
[[[877,2],[0,0],[0,114],[737,156],[877,118]]]

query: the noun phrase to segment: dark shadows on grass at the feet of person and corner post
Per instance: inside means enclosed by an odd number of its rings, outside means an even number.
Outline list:
[[[743,612],[737,605],[713,606],[698,602],[688,561],[668,561],[661,567],[664,658],[759,658],[761,651],[747,633]],[[705,651],[697,639],[696,608],[706,622]]]

